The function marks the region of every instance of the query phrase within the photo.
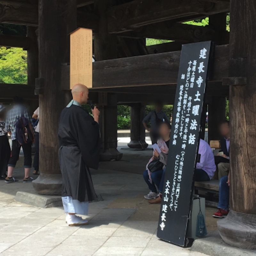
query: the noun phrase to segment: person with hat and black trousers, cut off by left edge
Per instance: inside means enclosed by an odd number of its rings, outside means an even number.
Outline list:
[[[0,105],[0,179],[5,180],[11,148],[5,129],[5,107]]]

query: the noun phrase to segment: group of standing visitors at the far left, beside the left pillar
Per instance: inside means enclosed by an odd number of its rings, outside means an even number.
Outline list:
[[[35,111],[39,117],[39,109]],[[35,116],[34,116],[35,117]],[[37,129],[37,128],[36,128]],[[39,132],[39,126],[38,130]],[[12,140],[12,150],[8,140],[8,134]],[[30,177],[30,168],[32,166],[32,144],[38,145],[39,136],[36,134],[32,125],[31,116],[28,109],[24,106],[23,100],[17,96],[13,98],[13,106],[7,111],[0,105],[0,174],[1,179],[6,183],[16,183],[19,180],[13,177],[13,170],[19,160],[20,149],[24,154],[24,178],[23,182],[34,180]],[[38,154],[38,147],[36,148]],[[34,167],[38,166],[38,155],[34,161]],[[38,167],[35,168],[38,173]],[[35,174],[37,174],[35,173]]]

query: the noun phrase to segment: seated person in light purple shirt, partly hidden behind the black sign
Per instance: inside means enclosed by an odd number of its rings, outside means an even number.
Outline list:
[[[200,162],[196,164],[196,170],[194,172],[195,181],[211,180],[216,171],[214,155],[209,144],[201,139],[198,154],[200,155]]]

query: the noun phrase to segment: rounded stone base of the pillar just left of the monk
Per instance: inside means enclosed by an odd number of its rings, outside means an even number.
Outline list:
[[[62,190],[61,174],[41,173],[32,182],[35,191],[40,195],[60,196]]]

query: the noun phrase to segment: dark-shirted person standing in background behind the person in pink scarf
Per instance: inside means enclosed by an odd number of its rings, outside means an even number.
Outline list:
[[[144,117],[142,123],[147,131],[150,132],[150,139],[152,141],[152,145],[157,143],[159,138],[159,125],[164,123],[170,124],[170,120],[168,116],[162,111],[163,104],[161,102],[156,102],[155,110],[150,111],[147,116]],[[147,125],[147,122],[150,121],[150,128]]]

